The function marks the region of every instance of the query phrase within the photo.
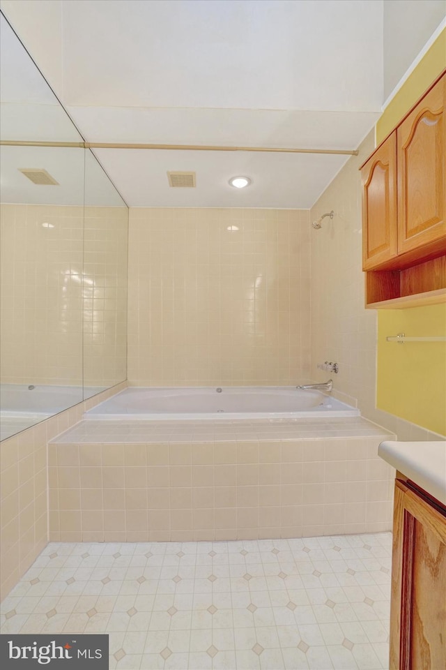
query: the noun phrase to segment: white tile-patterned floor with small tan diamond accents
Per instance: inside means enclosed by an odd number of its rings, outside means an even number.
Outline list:
[[[110,669],[386,669],[392,535],[50,543],[3,633],[109,634]]]

